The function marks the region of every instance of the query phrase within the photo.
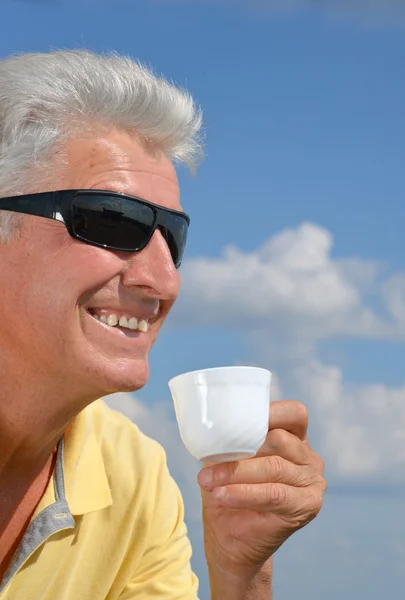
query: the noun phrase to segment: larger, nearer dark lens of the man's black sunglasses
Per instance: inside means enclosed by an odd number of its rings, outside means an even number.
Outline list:
[[[147,204],[103,194],[78,194],[72,204],[73,231],[82,240],[136,252],[149,241],[155,213]]]

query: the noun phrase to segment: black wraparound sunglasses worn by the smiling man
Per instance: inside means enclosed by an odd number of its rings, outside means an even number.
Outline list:
[[[159,229],[176,268],[183,259],[190,224],[184,212],[105,190],[61,190],[0,198],[0,210],[61,221],[72,237],[122,252],[142,250]]]

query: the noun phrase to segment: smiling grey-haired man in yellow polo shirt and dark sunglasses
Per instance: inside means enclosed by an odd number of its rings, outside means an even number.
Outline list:
[[[0,63],[0,597],[195,600],[164,452],[100,398],[148,380],[188,227],[174,162],[200,156],[191,98],[129,59]],[[280,545],[325,482],[298,402],[257,457],[206,466],[212,600],[268,600]]]

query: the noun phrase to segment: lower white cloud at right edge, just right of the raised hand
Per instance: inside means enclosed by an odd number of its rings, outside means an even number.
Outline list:
[[[291,373],[309,407],[317,449],[334,481],[405,482],[405,384],[346,383],[317,360]]]

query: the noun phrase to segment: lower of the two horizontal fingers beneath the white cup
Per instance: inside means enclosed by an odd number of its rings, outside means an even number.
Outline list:
[[[314,518],[322,507],[325,483],[322,478],[307,488],[283,483],[238,484],[218,487],[213,496],[227,508],[271,512],[285,518]]]

